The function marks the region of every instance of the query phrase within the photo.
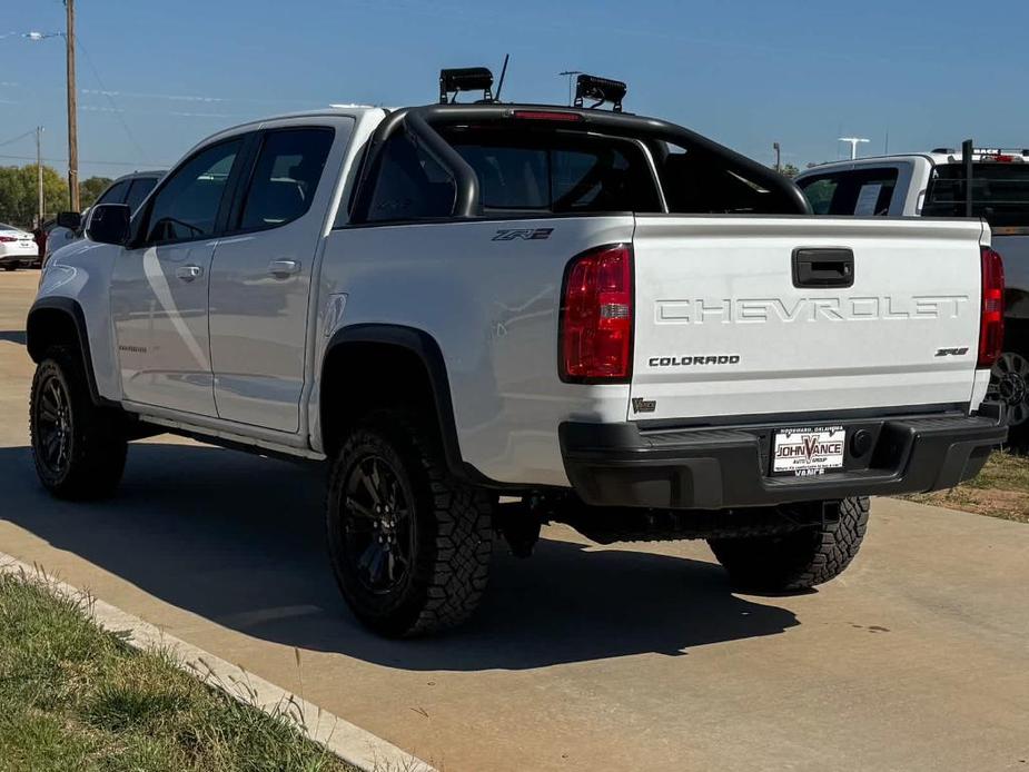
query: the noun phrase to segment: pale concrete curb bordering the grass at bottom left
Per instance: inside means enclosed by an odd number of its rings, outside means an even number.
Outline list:
[[[436,770],[370,732],[323,710],[291,692],[248,673],[239,665],[170,635],[138,616],[123,612],[49,576],[41,566],[22,563],[0,552],[0,572],[23,574],[42,580],[59,595],[85,602],[92,617],[109,633],[116,633],[135,649],[160,647],[172,653],[182,670],[192,675],[210,676],[206,681],[234,700],[269,713],[271,709],[290,705],[289,713],[297,728],[309,740],[325,746],[348,764],[363,772],[436,772]]]

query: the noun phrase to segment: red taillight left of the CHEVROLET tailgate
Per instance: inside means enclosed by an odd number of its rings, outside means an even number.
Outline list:
[[[629,380],[632,335],[632,249],[601,247],[572,260],[561,299],[562,380]]]

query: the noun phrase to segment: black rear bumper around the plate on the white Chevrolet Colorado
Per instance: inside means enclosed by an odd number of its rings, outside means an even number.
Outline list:
[[[871,449],[817,477],[772,477],[770,447],[786,420],[763,426],[660,429],[565,423],[561,448],[576,494],[593,506],[703,508],[939,491],[973,477],[1007,437],[999,415],[861,418],[834,423],[872,435]]]

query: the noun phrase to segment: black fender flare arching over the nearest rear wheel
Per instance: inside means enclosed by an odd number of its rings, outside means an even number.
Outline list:
[[[451,383],[447,377],[446,363],[443,350],[436,339],[425,330],[405,325],[394,324],[356,324],[342,327],[329,338],[321,357],[321,373],[318,384],[318,409],[325,393],[320,384],[325,383],[325,364],[334,348],[347,344],[383,344],[396,346],[414,354],[428,374],[433,390],[433,403],[436,407],[436,418],[439,425],[439,437],[443,443],[443,454],[451,473],[468,482],[486,482],[482,474],[461,457],[461,443],[457,439],[457,420],[454,417],[454,403],[451,398]],[[323,430],[324,430],[323,426]]]

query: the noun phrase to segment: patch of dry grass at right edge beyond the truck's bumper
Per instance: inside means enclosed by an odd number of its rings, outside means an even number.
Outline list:
[[[950,491],[908,498],[950,509],[1029,523],[1029,457],[993,453],[978,477]]]

